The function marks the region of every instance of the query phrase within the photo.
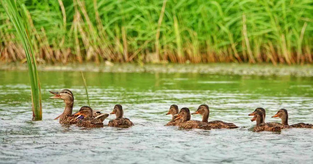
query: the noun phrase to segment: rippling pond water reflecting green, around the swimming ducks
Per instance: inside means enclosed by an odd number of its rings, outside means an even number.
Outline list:
[[[85,72],[91,107],[111,112],[121,104],[135,126],[85,129],[62,126],[63,112],[49,91],[73,91],[74,111],[87,105],[80,72],[41,72],[43,120],[31,121],[28,73],[0,71],[0,163],[310,163],[313,129],[280,134],[254,133],[248,114],[267,111],[266,122],[280,108],[289,123],[313,123],[313,77],[230,76],[199,73]],[[170,105],[195,111],[210,106],[210,120],[233,122],[238,129],[179,130],[165,127]],[[110,115],[104,121],[114,119]],[[200,115],[192,119],[201,120]]]

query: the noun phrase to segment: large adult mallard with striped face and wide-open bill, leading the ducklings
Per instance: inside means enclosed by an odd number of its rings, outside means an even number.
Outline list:
[[[62,99],[65,103],[65,109],[61,115],[55,119],[59,119],[60,124],[76,124],[77,119],[74,117],[73,106],[74,106],[74,95],[69,89],[63,89],[60,92],[49,91],[55,96],[50,97],[50,99]],[[107,114],[103,114],[100,111],[93,111],[93,117],[101,120],[105,120]]]

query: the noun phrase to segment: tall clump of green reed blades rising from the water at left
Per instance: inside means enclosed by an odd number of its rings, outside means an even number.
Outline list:
[[[25,6],[18,3],[18,7],[21,9],[18,11],[17,5],[14,0],[0,0],[7,16],[9,17],[11,24],[14,26],[16,35],[22,42],[25,57],[28,64],[28,73],[31,84],[31,95],[32,95],[32,109],[33,109],[33,120],[42,119],[42,106],[41,106],[41,92],[38,72],[36,68],[36,60],[33,51],[32,42],[29,39],[29,26],[27,20],[25,21]],[[22,19],[23,17],[23,19]],[[6,49],[7,47],[5,47]]]

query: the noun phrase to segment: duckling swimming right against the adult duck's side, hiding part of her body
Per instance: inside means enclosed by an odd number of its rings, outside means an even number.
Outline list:
[[[85,128],[103,128],[103,122],[100,119],[96,119],[92,114],[92,108],[89,106],[83,106],[80,108],[78,112],[74,114],[77,116],[79,121],[76,123],[78,127],[85,127]],[[108,117],[109,114],[105,115],[105,118]]]

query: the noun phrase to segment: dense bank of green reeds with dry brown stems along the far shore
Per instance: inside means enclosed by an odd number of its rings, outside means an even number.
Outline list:
[[[313,1],[21,1],[38,62],[313,62]],[[0,60],[25,61],[3,7]]]

